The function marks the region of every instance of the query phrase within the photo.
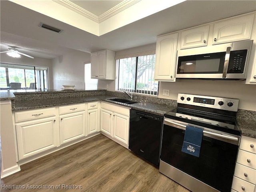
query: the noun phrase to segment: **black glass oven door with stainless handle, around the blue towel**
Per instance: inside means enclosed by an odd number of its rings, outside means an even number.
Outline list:
[[[160,160],[216,190],[230,192],[240,137],[203,128],[200,156],[196,157],[181,151],[186,125],[165,118]]]

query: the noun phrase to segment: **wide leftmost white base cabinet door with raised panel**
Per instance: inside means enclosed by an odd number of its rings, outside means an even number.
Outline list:
[[[58,146],[56,117],[16,124],[19,160]]]

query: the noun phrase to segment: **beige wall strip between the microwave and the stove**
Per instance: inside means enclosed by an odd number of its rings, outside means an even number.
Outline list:
[[[177,100],[178,93],[187,93],[236,98],[239,99],[239,109],[256,111],[256,85],[244,83],[245,81],[176,79],[176,82],[160,82],[158,97]],[[163,96],[163,89],[170,90],[170,95]]]

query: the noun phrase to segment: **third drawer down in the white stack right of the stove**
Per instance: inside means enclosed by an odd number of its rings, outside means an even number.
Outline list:
[[[256,183],[256,170],[238,163],[236,164],[234,176],[239,177],[252,184]]]

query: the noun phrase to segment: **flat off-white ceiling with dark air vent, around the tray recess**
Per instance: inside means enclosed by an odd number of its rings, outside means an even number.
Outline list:
[[[81,7],[92,4],[90,1],[72,2]],[[106,1],[107,4],[109,2],[112,1]],[[106,9],[108,8],[106,6]],[[93,7],[90,11],[98,15],[106,9],[96,12]],[[254,0],[189,0],[102,36],[96,36],[13,2],[1,0],[0,51],[6,51],[9,46],[16,46],[20,52],[42,58],[56,58],[73,49],[88,53],[102,49],[120,51],[156,43],[156,36],[161,34],[254,10]],[[63,32],[58,34],[40,28],[40,22],[63,29]]]

